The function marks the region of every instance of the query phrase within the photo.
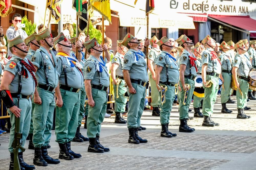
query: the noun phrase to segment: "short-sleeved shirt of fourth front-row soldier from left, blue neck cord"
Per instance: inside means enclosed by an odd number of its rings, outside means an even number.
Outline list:
[[[93,55],[90,55],[90,57],[86,60],[84,64],[84,79],[85,80],[92,80],[91,84],[94,85],[102,85],[104,87],[109,86],[109,73],[106,66],[102,66],[102,72],[100,72],[99,69],[99,62],[101,63],[107,63],[107,59],[105,58],[105,61],[103,61],[103,58],[100,57],[100,61],[94,57]]]

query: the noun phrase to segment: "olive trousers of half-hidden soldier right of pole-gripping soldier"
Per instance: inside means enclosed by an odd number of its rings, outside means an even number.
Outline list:
[[[150,81],[150,87],[151,87],[151,103],[150,105],[152,107],[158,107],[160,105],[161,97],[159,95],[159,91],[156,88],[156,81],[152,78],[151,72],[148,74],[149,81]]]

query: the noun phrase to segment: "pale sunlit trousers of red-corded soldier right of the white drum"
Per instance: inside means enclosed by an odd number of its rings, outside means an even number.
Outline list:
[[[217,93],[219,89],[219,77],[206,75],[206,81],[212,80],[213,84],[211,87],[205,87],[203,84],[203,88],[205,89],[205,97],[203,100],[203,109],[202,113],[205,116],[210,116],[213,113],[214,103],[217,98]]]

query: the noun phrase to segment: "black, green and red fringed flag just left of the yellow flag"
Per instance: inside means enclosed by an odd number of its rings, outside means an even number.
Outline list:
[[[80,11],[78,11],[78,5],[80,3]],[[73,0],[73,9],[78,13],[79,18],[79,31],[84,32],[87,28],[88,16],[87,16],[87,0]]]

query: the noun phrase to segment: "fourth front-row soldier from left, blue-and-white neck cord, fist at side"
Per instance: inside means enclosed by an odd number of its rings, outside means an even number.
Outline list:
[[[110,151],[101,145],[101,123],[107,109],[107,91],[109,87],[109,73],[106,63],[110,61],[110,54],[106,44],[101,46],[96,38],[84,43],[89,58],[84,64],[85,89],[89,105],[87,120],[87,136],[89,137],[88,152],[103,153]],[[104,51],[105,59],[101,57]]]

